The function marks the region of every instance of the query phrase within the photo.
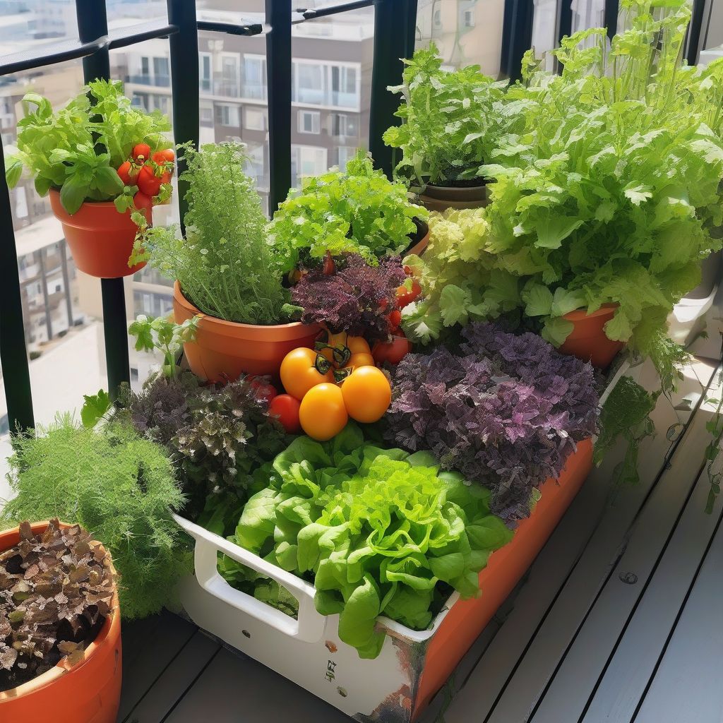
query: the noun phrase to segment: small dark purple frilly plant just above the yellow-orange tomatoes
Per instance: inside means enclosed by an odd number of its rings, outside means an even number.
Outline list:
[[[302,276],[291,298],[304,309],[304,324],[321,323],[334,334],[346,331],[369,341],[387,340],[387,314],[405,278],[398,256],[382,257],[378,265],[369,266],[359,254],[344,254],[336,259],[333,273],[316,268]]]

